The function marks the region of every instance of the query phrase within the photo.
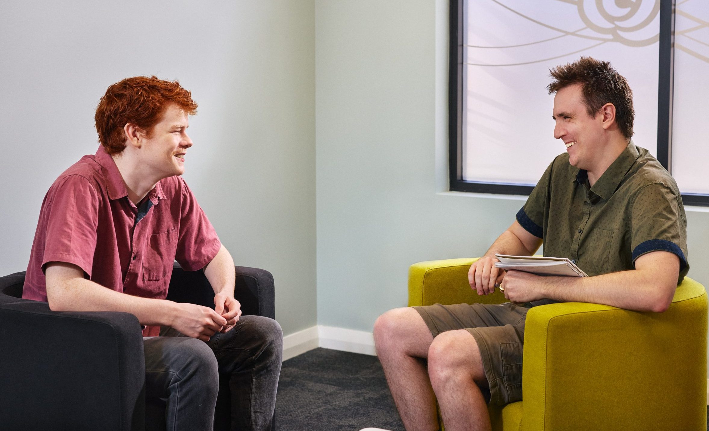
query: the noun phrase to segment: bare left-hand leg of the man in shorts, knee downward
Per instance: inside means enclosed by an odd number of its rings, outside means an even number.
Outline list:
[[[435,396],[425,358],[433,341],[413,308],[389,310],[374,323],[374,344],[386,382],[408,431],[438,430]]]

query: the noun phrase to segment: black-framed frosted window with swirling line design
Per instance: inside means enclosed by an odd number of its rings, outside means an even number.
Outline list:
[[[633,89],[633,142],[670,170],[685,204],[709,205],[708,21],[703,0],[451,0],[451,190],[529,194],[564,151],[549,68],[590,55]]]

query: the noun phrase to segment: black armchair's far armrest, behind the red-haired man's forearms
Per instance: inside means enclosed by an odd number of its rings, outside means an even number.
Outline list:
[[[234,298],[241,303],[243,315],[276,317],[273,275],[264,269],[235,266]],[[184,271],[177,262],[172,268],[172,278],[167,299],[191,302],[214,308],[214,290],[201,270]]]

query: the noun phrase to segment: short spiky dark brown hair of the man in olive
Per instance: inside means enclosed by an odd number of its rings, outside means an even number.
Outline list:
[[[632,136],[635,109],[632,108],[632,90],[627,81],[610,67],[610,62],[591,57],[581,57],[575,62],[549,70],[554,80],[547,85],[549,94],[556,93],[569,85],[580,84],[584,95],[586,111],[596,116],[604,104],[615,106],[615,124],[625,138]]]

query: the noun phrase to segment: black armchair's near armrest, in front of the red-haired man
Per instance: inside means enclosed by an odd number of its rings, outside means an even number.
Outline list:
[[[134,315],[53,312],[47,302],[0,294],[0,349],[0,427],[145,427],[143,337]]]

